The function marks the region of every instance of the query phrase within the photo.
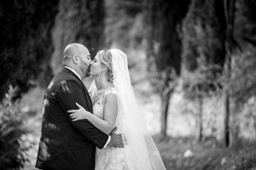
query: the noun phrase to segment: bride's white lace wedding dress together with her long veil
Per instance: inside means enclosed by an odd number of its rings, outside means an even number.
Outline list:
[[[113,85],[93,105],[96,116],[103,118],[105,99],[115,94],[118,114],[115,127],[127,139],[124,148],[96,149],[96,170],[166,170],[160,153],[143,121],[142,111],[137,105],[128,71],[126,54],[119,49],[110,49],[112,54]],[[92,101],[96,99],[96,84],[88,90]]]

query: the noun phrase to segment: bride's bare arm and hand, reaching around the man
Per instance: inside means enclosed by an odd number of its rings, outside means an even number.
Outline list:
[[[103,119],[91,114],[89,111],[84,110],[81,105],[77,105],[79,106],[78,110],[67,111],[72,113],[70,116],[73,118],[73,121],[87,119],[103,133],[109,134],[111,132],[118,112],[118,105],[115,94],[108,94],[106,96],[103,109]]]

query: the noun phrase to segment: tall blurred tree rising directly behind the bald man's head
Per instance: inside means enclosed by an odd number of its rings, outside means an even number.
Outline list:
[[[104,45],[104,1],[64,0],[59,4],[53,29],[54,53],[51,67],[58,72],[62,67],[62,53],[68,43],[84,44],[92,57]]]

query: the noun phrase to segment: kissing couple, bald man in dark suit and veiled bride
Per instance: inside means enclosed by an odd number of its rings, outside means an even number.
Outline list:
[[[94,78],[87,90],[82,79]],[[166,169],[143,122],[126,54],[68,44],[63,70],[44,94],[36,167],[44,170]]]

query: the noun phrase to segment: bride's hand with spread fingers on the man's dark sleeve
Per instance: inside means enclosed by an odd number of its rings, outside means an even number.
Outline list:
[[[82,105],[79,105],[78,103],[76,103],[76,105],[79,107],[79,109],[67,111],[68,113],[71,113],[69,116],[71,117],[72,121],[88,119],[90,112],[86,111]]]

